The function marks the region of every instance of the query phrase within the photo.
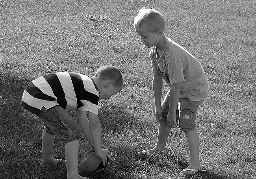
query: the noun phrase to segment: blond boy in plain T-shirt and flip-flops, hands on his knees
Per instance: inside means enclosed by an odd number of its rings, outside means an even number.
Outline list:
[[[160,123],[158,139],[153,149],[138,152],[150,156],[156,151],[165,153],[170,128],[184,131],[190,151],[189,166],[181,175],[193,175],[202,170],[199,161],[199,139],[195,126],[199,105],[209,93],[209,81],[200,62],[187,50],[164,34],[163,15],[154,9],[140,9],[134,18],[134,28],[141,42],[150,50],[153,68],[153,91],[156,120]],[[170,87],[161,105],[163,79]],[[176,113],[180,101],[180,118]],[[177,125],[178,123],[178,125]]]

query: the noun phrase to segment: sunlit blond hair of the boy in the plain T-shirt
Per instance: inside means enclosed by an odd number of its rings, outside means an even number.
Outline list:
[[[148,30],[156,32],[157,30],[165,30],[165,20],[163,15],[155,9],[139,10],[138,15],[134,18],[134,28],[138,29],[142,25],[147,25]]]

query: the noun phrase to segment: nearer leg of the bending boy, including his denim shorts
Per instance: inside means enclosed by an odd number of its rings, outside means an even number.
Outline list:
[[[78,173],[78,149],[79,140],[83,137],[82,128],[76,120],[60,106],[48,110],[44,108],[42,110],[43,112],[39,117],[44,120],[46,129],[49,128],[48,132],[54,133],[54,135],[58,136],[63,142],[66,142],[65,162],[67,166],[67,179],[87,179],[86,177],[80,176]],[[43,113],[46,113],[45,117],[43,117]],[[46,134],[45,136],[51,139],[48,145],[51,144],[52,146],[54,142],[53,137],[50,137],[50,134]]]

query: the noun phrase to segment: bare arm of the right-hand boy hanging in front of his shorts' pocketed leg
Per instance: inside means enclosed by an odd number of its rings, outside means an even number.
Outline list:
[[[175,83],[171,85],[170,88],[170,101],[169,101],[169,111],[167,115],[167,126],[171,128],[177,127],[176,123],[176,109],[180,98],[180,83]]]

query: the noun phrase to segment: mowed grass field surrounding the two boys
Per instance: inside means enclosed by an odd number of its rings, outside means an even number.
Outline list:
[[[43,74],[93,76],[103,65],[119,67],[124,86],[99,103],[108,168],[84,176],[184,178],[178,176],[189,165],[184,133],[171,130],[165,156],[135,156],[154,147],[158,130],[149,49],[133,28],[141,7],[163,14],[167,37],[198,58],[210,81],[197,119],[203,171],[185,178],[256,178],[255,0],[0,0],[0,178],[67,177],[65,166],[39,167],[43,124],[19,106],[22,92]],[[90,149],[86,140],[80,144],[79,161]],[[64,147],[56,139],[54,157],[65,159]]]

